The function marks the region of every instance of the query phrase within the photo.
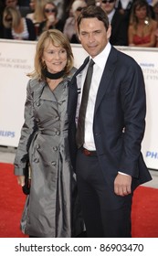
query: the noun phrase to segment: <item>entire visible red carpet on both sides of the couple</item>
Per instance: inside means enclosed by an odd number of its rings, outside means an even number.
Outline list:
[[[25,199],[13,174],[13,165],[0,163],[0,238],[26,237],[19,229]],[[158,238],[158,189],[138,187],[135,190],[132,237]]]

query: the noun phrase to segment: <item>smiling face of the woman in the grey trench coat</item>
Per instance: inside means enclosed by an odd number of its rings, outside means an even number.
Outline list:
[[[65,48],[55,47],[51,42],[46,42],[42,60],[50,73],[58,73],[67,65],[67,51]]]

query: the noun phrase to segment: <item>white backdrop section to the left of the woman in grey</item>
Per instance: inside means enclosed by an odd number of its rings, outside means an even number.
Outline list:
[[[0,42],[0,144],[16,146],[23,124],[26,73],[32,70],[35,45]]]

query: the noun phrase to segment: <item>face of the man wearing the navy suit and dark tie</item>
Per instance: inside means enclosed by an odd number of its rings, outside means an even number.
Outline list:
[[[79,25],[79,40],[92,58],[100,54],[111,37],[111,27],[106,28],[96,17],[83,18]]]

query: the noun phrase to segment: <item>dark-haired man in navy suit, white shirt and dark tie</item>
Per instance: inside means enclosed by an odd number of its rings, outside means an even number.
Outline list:
[[[91,5],[83,9],[78,29],[79,40],[90,57],[69,86],[69,147],[74,165],[76,126],[77,143],[81,138],[81,121],[77,121],[76,114],[80,116],[88,62],[94,61],[82,124],[84,141],[81,146],[78,144],[75,167],[87,234],[131,237],[133,190],[151,180],[141,153],[146,112],[142,69],[130,56],[111,46],[111,26],[100,7]]]

